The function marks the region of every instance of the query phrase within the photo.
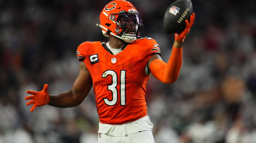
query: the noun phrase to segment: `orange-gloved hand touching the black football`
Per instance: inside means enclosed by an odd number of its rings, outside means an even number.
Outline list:
[[[186,35],[189,33],[190,28],[192,27],[194,22],[195,22],[195,13],[192,13],[192,15],[190,16],[190,21],[185,20],[186,28],[180,33],[175,33],[174,39],[180,42],[184,42],[184,39],[186,38]]]

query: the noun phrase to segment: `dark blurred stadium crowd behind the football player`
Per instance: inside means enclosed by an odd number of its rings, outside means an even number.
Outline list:
[[[94,94],[77,107],[26,106],[27,90],[70,89],[79,70],[76,48],[108,41],[95,24],[109,1],[0,0],[0,143],[97,143]],[[174,1],[131,0],[143,36],[167,62],[174,35],[163,15]],[[192,0],[195,24],[183,44],[178,80],[147,85],[156,143],[256,142],[256,1]]]

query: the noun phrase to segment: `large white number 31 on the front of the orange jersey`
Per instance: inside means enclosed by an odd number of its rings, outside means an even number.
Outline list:
[[[112,99],[103,98],[105,104],[108,106],[113,106],[117,103],[118,100],[118,90],[117,90],[117,73],[113,70],[107,70],[103,72],[102,78],[107,78],[108,75],[112,77],[112,83],[108,84],[108,91],[112,92]],[[125,82],[126,82],[126,70],[120,71],[120,106],[126,106],[126,95],[125,95]]]

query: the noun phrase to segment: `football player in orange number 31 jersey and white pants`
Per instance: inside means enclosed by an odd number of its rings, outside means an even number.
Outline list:
[[[146,83],[151,74],[163,83],[177,80],[182,63],[182,44],[194,23],[195,14],[186,20],[186,28],[175,34],[167,63],[161,59],[158,43],[141,37],[142,16],[128,1],[109,2],[100,13],[100,24],[108,42],[83,42],[76,54],[79,74],[73,86],[57,95],[48,94],[48,85],[40,92],[28,90],[31,112],[43,105],[78,106],[94,89],[99,115],[98,143],[154,143],[145,102]]]

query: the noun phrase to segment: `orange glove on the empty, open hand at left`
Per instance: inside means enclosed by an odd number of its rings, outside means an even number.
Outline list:
[[[34,104],[30,112],[33,112],[34,109],[38,106],[44,106],[50,102],[50,96],[48,94],[48,84],[45,84],[44,89],[40,92],[37,91],[32,91],[32,90],[27,90],[27,94],[32,94],[31,96],[26,96],[25,100],[30,100],[27,102],[27,106]]]

